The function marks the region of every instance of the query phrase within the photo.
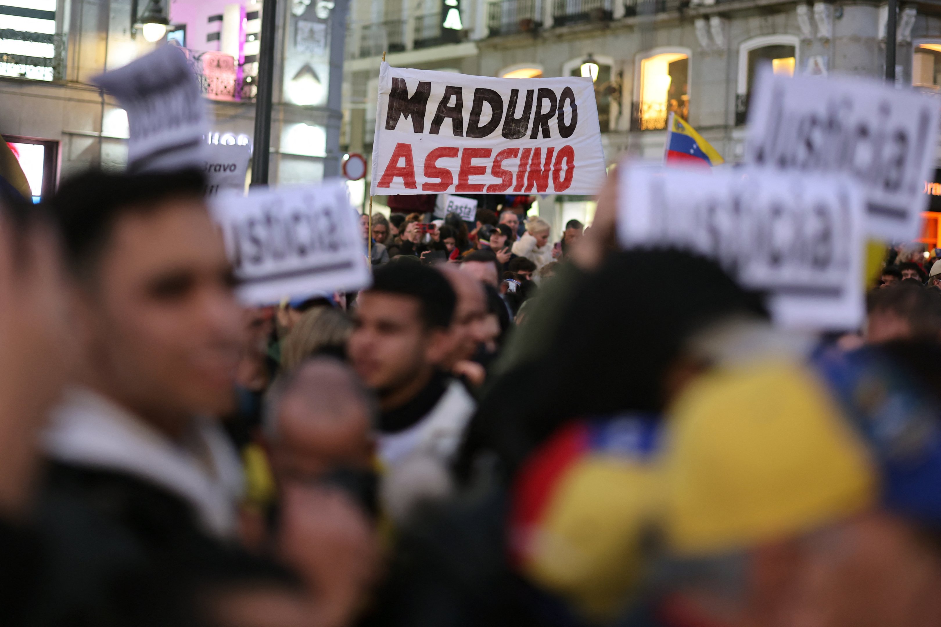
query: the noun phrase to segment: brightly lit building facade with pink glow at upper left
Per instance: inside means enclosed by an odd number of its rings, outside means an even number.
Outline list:
[[[263,0],[0,4],[0,134],[20,154],[34,197],[83,168],[125,164],[127,116],[92,79],[167,42],[199,75],[215,119],[207,143],[252,144]],[[345,9],[345,0],[278,4],[272,183],[339,174]],[[153,15],[167,26],[142,24]]]

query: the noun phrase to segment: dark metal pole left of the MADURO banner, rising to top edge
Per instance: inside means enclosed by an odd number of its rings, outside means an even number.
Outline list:
[[[251,152],[251,184],[268,184],[271,152],[271,96],[275,78],[275,36],[278,0],[264,0],[259,42],[258,91],[255,93],[255,137]]]

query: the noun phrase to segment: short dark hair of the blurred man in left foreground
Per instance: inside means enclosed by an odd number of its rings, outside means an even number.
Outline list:
[[[121,216],[152,212],[172,198],[201,198],[205,188],[205,176],[197,169],[149,174],[88,170],[66,180],[49,206],[68,267],[88,278]]]

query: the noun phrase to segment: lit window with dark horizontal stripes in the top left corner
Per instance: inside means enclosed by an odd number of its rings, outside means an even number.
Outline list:
[[[0,2],[0,76],[56,78],[56,0]]]

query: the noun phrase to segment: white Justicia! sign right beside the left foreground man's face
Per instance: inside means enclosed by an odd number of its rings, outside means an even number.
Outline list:
[[[370,283],[359,220],[342,182],[220,194],[212,208],[249,304]]]

